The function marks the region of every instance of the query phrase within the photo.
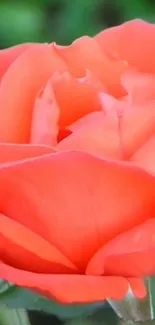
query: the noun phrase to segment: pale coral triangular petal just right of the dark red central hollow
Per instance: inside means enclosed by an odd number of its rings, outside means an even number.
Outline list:
[[[79,127],[78,127],[79,125]],[[60,141],[55,150],[78,150],[98,157],[121,159],[118,118],[115,114],[96,112],[75,122],[71,135]]]

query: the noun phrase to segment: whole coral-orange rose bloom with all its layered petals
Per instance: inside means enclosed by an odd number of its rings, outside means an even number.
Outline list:
[[[0,52],[0,277],[62,302],[155,273],[155,25]]]

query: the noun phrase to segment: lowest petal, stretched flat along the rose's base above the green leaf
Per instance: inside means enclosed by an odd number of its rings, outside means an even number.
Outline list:
[[[95,302],[106,298],[122,299],[128,292],[130,283],[122,277],[42,275],[20,271],[3,263],[0,263],[0,277],[19,286],[37,290],[62,303]],[[142,298],[146,294],[144,285],[138,284],[137,290],[136,282],[139,281],[135,279],[133,288],[136,288],[137,297]]]

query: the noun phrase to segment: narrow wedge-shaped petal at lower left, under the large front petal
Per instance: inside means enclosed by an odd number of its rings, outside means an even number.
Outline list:
[[[56,247],[18,222],[0,214],[0,259],[38,273],[75,273],[76,267]]]

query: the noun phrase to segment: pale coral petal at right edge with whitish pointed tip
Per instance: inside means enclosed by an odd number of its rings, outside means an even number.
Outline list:
[[[118,114],[120,143],[124,159],[128,160],[155,132],[154,100],[143,98],[142,103],[135,104],[129,96],[116,100],[110,95],[103,95],[102,102],[107,110]]]

